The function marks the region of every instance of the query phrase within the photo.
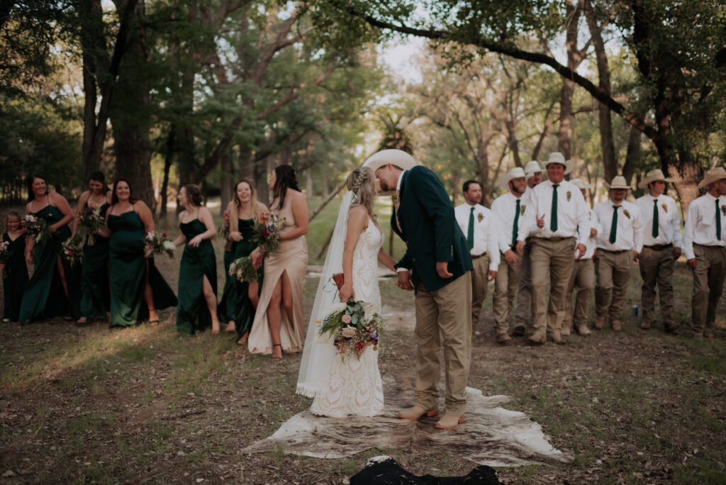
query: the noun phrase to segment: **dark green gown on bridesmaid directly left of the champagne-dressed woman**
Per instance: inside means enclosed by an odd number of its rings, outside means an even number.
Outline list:
[[[250,253],[257,247],[256,243],[252,242],[255,221],[253,219],[238,219],[237,222],[242,234],[242,240],[237,243],[232,261],[244,256],[250,256]],[[230,264],[232,263],[230,262]],[[262,288],[263,274],[264,266],[261,266],[257,270],[258,294]],[[248,282],[239,282],[235,277],[229,276],[229,269],[227,269],[227,283],[224,285],[224,296],[222,298],[224,304],[220,303],[219,305],[224,310],[219,311],[220,314],[224,315],[224,319],[220,317],[220,320],[222,322],[234,321],[237,339],[250,330],[252,321],[255,318],[255,307],[252,306],[252,302],[248,297],[249,286]]]

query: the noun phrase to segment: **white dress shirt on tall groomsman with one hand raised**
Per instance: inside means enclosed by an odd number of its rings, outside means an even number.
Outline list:
[[[563,180],[557,189],[557,231],[550,230],[552,211],[552,181],[545,180],[532,189],[523,218],[519,220],[517,240],[527,237],[577,237],[578,244],[586,244],[590,236],[589,208],[582,192],[571,182]],[[544,217],[544,227],[537,227],[537,217]],[[578,229],[579,227],[579,229]]]

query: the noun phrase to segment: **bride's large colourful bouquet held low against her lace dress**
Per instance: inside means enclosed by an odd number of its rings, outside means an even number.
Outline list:
[[[319,330],[322,337],[333,338],[333,345],[345,360],[346,354],[354,354],[360,360],[367,347],[378,350],[378,338],[385,321],[372,311],[368,303],[350,298],[340,303],[325,317]]]

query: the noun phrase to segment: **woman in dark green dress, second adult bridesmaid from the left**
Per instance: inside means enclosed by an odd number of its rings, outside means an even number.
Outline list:
[[[81,194],[73,219],[73,235],[78,232],[78,217],[86,209],[97,209],[102,216],[111,205],[111,191],[106,185],[103,172],[94,171],[89,177],[89,189]],[[81,229],[83,230],[83,229]],[[88,237],[83,244],[83,266],[81,266],[81,318],[78,325],[89,318],[106,317],[110,308],[108,288],[108,239],[96,235],[94,245],[89,246]]]

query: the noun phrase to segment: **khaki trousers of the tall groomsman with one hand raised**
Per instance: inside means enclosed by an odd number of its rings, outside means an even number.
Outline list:
[[[558,334],[565,320],[565,296],[575,263],[575,238],[531,240],[532,298],[534,298],[534,333],[544,338]],[[547,280],[550,303],[547,303]]]

